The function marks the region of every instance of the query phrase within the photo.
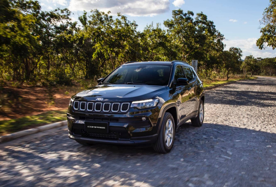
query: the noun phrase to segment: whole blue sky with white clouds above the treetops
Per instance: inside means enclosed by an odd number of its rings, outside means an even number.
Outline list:
[[[191,10],[195,14],[203,12],[212,20],[216,28],[225,36],[225,49],[240,47],[243,58],[248,55],[255,57],[275,57],[271,48],[259,50],[256,40],[259,38],[259,19],[269,0],[39,0],[43,10],[57,7],[69,8],[74,13],[73,20],[83,10],[99,9],[112,14],[121,12],[129,20],[135,20],[141,31],[147,24],[153,22],[163,24],[171,18],[171,11],[181,8]]]

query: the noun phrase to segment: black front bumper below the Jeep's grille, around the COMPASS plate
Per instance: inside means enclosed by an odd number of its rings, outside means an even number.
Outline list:
[[[99,113],[76,113],[67,111],[69,138],[90,143],[110,144],[151,144],[158,137],[159,108],[145,111],[129,111],[126,114],[99,114]],[[146,120],[142,120],[145,117]],[[108,123],[107,133],[94,133],[86,131],[87,122]]]

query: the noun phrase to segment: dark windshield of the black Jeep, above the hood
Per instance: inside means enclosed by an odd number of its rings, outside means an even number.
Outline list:
[[[127,65],[112,72],[102,83],[166,86],[170,73],[170,65]]]

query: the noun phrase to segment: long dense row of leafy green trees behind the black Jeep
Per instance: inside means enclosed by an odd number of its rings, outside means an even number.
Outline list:
[[[120,13],[113,17],[110,12],[84,11],[73,22],[68,9],[42,11],[37,1],[0,1],[4,81],[71,84],[106,76],[127,61],[196,59],[201,78],[228,79],[231,72],[240,72],[242,51],[223,51],[223,34],[202,12],[173,10],[165,29],[152,23],[139,31],[135,21]],[[270,71],[265,64],[259,72]]]

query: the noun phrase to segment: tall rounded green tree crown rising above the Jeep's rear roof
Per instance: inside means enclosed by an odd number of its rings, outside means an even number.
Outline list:
[[[203,58],[203,49],[210,44],[210,40],[215,42],[218,36],[214,23],[202,12],[197,13],[195,19],[192,11],[184,13],[178,9],[173,10],[172,14],[172,19],[164,21],[164,25],[168,28],[170,39],[178,46],[182,60],[198,59],[200,54]]]

